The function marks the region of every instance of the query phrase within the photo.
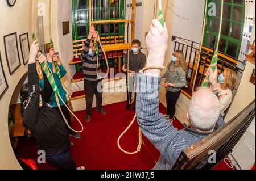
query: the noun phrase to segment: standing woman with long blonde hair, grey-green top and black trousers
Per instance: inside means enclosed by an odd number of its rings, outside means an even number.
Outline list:
[[[162,77],[166,78],[164,87],[167,87],[166,103],[167,113],[166,118],[172,122],[175,115],[175,105],[179,99],[181,88],[187,85],[186,74],[187,65],[185,63],[184,53],[176,50],[171,57],[171,62],[167,66],[166,73]]]

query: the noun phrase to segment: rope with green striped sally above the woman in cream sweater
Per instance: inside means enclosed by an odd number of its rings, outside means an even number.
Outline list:
[[[218,64],[218,45],[220,44],[220,37],[221,37],[221,27],[222,27],[222,17],[223,17],[223,4],[224,0],[221,0],[221,17],[220,17],[220,28],[218,30],[218,42],[217,42],[217,47],[214,52],[212,62],[210,63],[210,67],[212,68],[213,71],[216,70],[217,64]],[[204,82],[202,83],[202,87],[207,87],[209,84],[209,77],[205,77]]]

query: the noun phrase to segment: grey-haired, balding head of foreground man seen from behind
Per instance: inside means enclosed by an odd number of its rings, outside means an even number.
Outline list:
[[[212,130],[220,115],[217,96],[208,87],[200,87],[190,100],[188,115],[193,127],[200,131]]]

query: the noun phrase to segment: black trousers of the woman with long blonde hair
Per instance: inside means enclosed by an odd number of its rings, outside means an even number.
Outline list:
[[[167,103],[167,112],[166,115],[170,115],[169,118],[172,119],[174,118],[175,111],[176,111],[176,103],[177,100],[179,99],[181,90],[177,92],[166,92],[166,103]]]

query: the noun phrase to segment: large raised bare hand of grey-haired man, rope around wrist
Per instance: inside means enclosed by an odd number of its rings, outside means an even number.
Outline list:
[[[162,66],[164,64],[164,57],[168,47],[168,31],[165,23],[163,27],[159,20],[154,19],[152,21],[150,32],[148,32],[146,36],[146,46],[148,50],[147,66]],[[156,71],[153,69],[153,71],[146,71],[151,73],[158,72],[160,75],[160,70]]]

